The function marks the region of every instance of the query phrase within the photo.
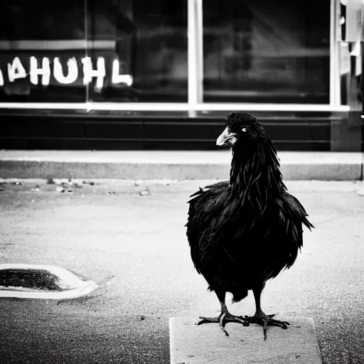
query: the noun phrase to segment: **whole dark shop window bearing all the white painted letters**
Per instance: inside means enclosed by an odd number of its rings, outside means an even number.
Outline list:
[[[186,0],[0,1],[0,102],[186,102]]]

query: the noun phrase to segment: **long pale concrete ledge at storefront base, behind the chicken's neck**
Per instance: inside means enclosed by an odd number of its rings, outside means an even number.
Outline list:
[[[286,180],[355,181],[363,154],[279,152]],[[230,150],[221,151],[0,151],[0,178],[228,178]]]

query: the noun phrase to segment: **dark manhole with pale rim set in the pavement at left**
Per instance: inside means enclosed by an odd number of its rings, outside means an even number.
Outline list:
[[[0,264],[0,297],[73,299],[99,287],[52,265]]]

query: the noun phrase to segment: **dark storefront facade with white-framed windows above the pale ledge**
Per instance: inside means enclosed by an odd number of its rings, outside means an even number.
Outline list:
[[[242,110],[278,149],[359,151],[346,1],[3,1],[0,148],[213,149]]]

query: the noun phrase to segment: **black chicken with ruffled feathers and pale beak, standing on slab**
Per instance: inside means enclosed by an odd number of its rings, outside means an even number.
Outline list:
[[[268,279],[291,267],[301,250],[302,223],[311,230],[306,211],[287,192],[279,171],[277,151],[255,117],[245,112],[229,114],[218,146],[232,148],[230,181],[206,186],[194,193],[188,209],[187,237],[191,257],[210,291],[215,291],[221,314],[200,317],[201,323],[225,323],[287,328],[286,321],[272,319],[260,306]],[[234,316],[225,304],[226,292],[233,302],[252,289],[256,312],[252,317]]]

